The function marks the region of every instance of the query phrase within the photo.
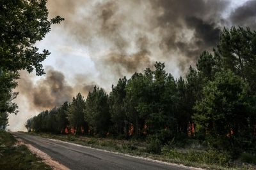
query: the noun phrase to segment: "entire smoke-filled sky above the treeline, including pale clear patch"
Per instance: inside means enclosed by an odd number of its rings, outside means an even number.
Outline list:
[[[50,0],[47,7],[50,18],[65,21],[36,43],[51,52],[43,62],[46,74],[20,72],[12,131],[26,131],[28,118],[77,92],[86,96],[94,85],[109,92],[118,78],[156,61],[175,78],[183,76],[203,50],[212,51],[224,26],[256,27],[255,0]]]

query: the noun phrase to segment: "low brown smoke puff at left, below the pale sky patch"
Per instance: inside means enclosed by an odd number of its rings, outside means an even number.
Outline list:
[[[33,83],[33,76],[21,71],[17,90],[20,95],[26,96],[32,110],[51,109],[60,106],[65,101],[71,101],[78,92],[86,96],[96,85],[91,82],[86,83],[86,78],[81,80],[79,76],[76,80],[79,81],[79,85],[74,85],[74,87],[68,85],[63,73],[48,68],[45,77]]]

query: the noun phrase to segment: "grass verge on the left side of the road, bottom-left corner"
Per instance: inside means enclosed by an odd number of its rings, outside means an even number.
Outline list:
[[[25,145],[17,145],[12,134],[0,131],[0,169],[52,169],[31,153]]]

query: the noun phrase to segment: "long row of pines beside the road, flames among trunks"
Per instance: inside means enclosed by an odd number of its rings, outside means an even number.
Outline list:
[[[164,63],[120,78],[107,94],[95,87],[86,99],[46,110],[28,131],[122,138],[161,144],[195,138],[234,152],[256,152],[256,32],[224,28],[212,53],[175,80]]]

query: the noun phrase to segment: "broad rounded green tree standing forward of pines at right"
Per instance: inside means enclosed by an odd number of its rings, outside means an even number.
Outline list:
[[[250,92],[242,78],[231,71],[217,73],[214,81],[204,87],[204,98],[195,105],[194,119],[198,131],[214,138],[227,138],[230,145],[243,145],[250,131]],[[232,133],[232,134],[231,134]]]

